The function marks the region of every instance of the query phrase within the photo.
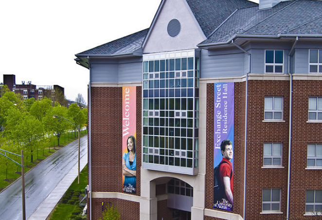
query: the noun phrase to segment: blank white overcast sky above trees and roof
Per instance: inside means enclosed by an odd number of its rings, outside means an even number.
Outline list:
[[[258,3],[258,0],[253,0]],[[3,0],[0,3],[0,82],[60,85],[88,102],[89,70],[75,54],[151,25],[161,0]]]

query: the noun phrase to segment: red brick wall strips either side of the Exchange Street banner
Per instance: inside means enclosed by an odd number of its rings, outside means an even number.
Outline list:
[[[234,84],[234,183],[233,213],[243,216],[244,201],[244,137],[245,137],[245,82]],[[214,137],[214,84],[207,84],[206,137]],[[214,139],[206,140],[206,154],[214,155]],[[206,208],[214,209],[214,158],[206,161]],[[210,218],[210,217],[205,217]],[[213,218],[211,218],[213,219]]]

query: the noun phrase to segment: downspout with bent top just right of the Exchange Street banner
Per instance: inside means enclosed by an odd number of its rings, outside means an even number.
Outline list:
[[[244,210],[243,220],[246,218],[246,167],[247,167],[247,116],[248,116],[248,75],[251,73],[251,54],[232,41],[232,44],[249,56],[249,71],[246,73],[246,100],[245,100],[245,155],[244,155]]]

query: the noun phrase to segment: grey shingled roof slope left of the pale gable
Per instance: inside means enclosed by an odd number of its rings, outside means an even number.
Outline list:
[[[139,31],[120,39],[111,41],[107,44],[103,44],[98,47],[86,50],[84,52],[76,54],[76,56],[87,56],[87,55],[122,55],[130,54],[134,51],[142,48],[142,43],[148,29]]]

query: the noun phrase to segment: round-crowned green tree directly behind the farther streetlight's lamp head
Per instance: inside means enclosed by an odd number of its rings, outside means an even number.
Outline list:
[[[60,117],[67,117],[67,108],[55,104],[54,108],[47,112],[46,116],[43,118],[44,126],[47,128],[48,133],[53,133],[56,136],[59,146],[59,138],[65,133],[66,130],[70,129],[70,123],[62,118],[54,118],[57,115]]]

